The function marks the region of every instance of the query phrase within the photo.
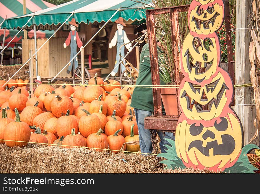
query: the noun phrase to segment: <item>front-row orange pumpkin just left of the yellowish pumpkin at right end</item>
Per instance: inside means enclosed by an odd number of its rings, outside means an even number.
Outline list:
[[[120,131],[121,129],[118,129],[113,135],[110,135],[107,138],[109,151],[112,153],[120,153],[121,147],[126,142],[125,138],[118,134]],[[123,150],[126,150],[126,144],[124,145]]]

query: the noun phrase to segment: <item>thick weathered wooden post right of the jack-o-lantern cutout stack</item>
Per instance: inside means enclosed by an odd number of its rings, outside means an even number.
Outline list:
[[[249,84],[250,61],[248,57],[249,43],[251,42],[248,24],[251,21],[249,15],[252,13],[251,0],[236,0],[236,36],[235,36],[235,85]],[[246,106],[252,104],[254,96],[253,88],[235,87],[235,112],[241,120],[244,131],[244,145],[247,145],[255,133],[252,123],[255,116],[253,113],[256,107]]]

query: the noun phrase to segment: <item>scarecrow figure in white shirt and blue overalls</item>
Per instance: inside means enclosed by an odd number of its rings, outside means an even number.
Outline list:
[[[108,44],[109,48],[112,48],[116,45],[116,61],[113,71],[111,72],[111,76],[115,76],[118,72],[119,62],[123,59],[121,63],[121,73],[126,69],[124,66],[125,63],[125,47],[129,49],[129,51],[132,50],[130,40],[127,38],[126,32],[123,30],[123,26],[126,26],[126,24],[123,21],[123,17],[119,17],[116,21],[116,33],[114,37],[112,38],[111,42]],[[129,43],[129,44],[126,44]],[[124,45],[126,44],[126,45]],[[127,73],[124,73],[124,76],[127,76]]]

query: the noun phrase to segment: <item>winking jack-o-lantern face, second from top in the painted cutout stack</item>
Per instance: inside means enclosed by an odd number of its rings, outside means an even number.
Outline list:
[[[209,46],[206,45],[207,42]],[[182,46],[182,73],[191,81],[201,83],[214,76],[220,64],[220,58],[220,43],[216,33],[205,38],[194,37],[189,33]],[[211,66],[207,71],[201,71],[201,68],[209,65]]]

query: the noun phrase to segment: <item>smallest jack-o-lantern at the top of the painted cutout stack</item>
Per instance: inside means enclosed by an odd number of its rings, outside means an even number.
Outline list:
[[[201,1],[200,1],[201,2]],[[208,35],[216,32],[222,26],[224,3],[215,0],[212,3],[202,5],[200,2],[192,1],[188,12],[188,25],[191,32]]]

